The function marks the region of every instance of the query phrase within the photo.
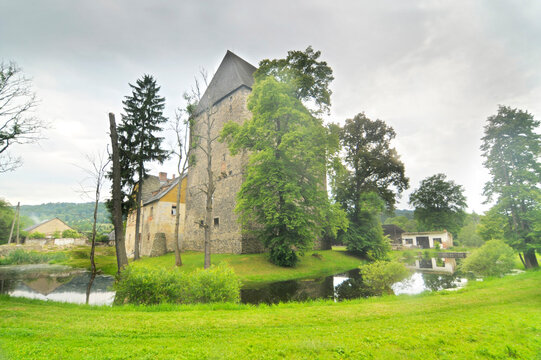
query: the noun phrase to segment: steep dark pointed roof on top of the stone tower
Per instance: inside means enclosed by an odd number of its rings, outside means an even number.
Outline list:
[[[197,106],[196,114],[202,112],[207,106],[216,104],[242,86],[251,89],[254,84],[253,74],[256,70],[255,66],[227,50]]]

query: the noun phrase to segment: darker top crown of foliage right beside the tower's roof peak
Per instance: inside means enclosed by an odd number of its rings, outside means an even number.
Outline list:
[[[293,87],[294,96],[305,106],[315,105],[314,114],[329,112],[331,94],[329,84],[334,80],[332,69],[325,61],[318,60],[321,51],[311,46],[305,51],[293,50],[285,59],[265,59],[259,62],[254,74],[256,80],[272,76]]]

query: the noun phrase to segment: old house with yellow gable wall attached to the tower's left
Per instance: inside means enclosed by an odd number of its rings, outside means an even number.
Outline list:
[[[180,206],[177,209],[178,182],[181,181]],[[174,251],[175,221],[177,211],[180,213],[179,234],[184,232],[186,204],[186,177],[173,176],[167,173],[159,176],[147,176],[143,181],[141,194],[141,222],[139,253],[142,256],[159,256]],[[135,252],[135,224],[137,210],[128,214],[126,221],[126,253],[133,256]]]

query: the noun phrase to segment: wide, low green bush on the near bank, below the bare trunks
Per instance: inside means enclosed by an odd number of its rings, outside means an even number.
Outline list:
[[[114,285],[115,304],[238,302],[240,282],[225,264],[183,273],[128,266]]]

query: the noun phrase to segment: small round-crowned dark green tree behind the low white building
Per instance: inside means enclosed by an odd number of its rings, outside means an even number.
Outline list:
[[[410,195],[419,230],[448,230],[456,237],[466,218],[463,193],[463,187],[446,180],[444,174],[432,175],[421,181],[419,188]]]

